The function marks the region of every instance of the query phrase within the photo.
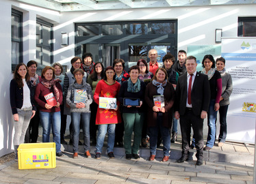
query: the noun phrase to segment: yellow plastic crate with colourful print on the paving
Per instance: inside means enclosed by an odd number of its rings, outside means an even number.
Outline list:
[[[55,142],[27,143],[18,147],[18,169],[56,167]]]

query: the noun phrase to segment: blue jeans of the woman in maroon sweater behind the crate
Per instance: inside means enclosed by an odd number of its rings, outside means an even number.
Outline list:
[[[40,111],[42,123],[42,142],[50,142],[50,132],[53,132],[53,142],[56,144],[56,153],[60,150],[60,112],[42,112]]]

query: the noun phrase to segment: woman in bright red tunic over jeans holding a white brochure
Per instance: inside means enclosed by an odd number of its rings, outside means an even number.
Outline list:
[[[104,143],[105,134],[107,133],[107,155],[110,158],[114,158],[114,140],[115,140],[115,129],[116,124],[120,123],[121,117],[118,107],[120,103],[116,101],[118,91],[120,89],[120,84],[115,80],[116,74],[114,72],[114,67],[109,66],[105,69],[105,76],[97,84],[94,92],[94,102],[96,102],[99,107],[96,116],[96,125],[99,125],[99,132],[97,136],[96,144],[96,159],[101,158],[101,151]],[[106,108],[107,104],[101,103],[101,97],[103,102],[116,101],[116,108],[109,109]],[[112,105],[112,104],[111,104]],[[105,107],[104,107],[105,106]]]

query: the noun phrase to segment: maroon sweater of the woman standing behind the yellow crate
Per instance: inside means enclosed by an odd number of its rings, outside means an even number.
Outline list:
[[[57,102],[62,104],[62,86],[60,85],[59,82],[57,82],[56,87],[60,91],[60,98],[59,100],[57,100]],[[53,108],[50,108],[50,109],[45,108],[45,104],[47,104],[47,101],[45,100],[44,95],[47,95],[51,92],[53,93],[53,87],[51,87],[50,89],[47,87],[44,87],[44,85],[42,85],[41,82],[38,83],[38,85],[36,86],[34,99],[36,103],[38,103],[40,111],[43,111],[43,112],[59,112],[60,111],[60,107],[57,108],[54,106]]]

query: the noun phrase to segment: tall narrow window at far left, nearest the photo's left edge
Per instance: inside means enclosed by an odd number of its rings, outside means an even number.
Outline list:
[[[23,61],[23,14],[12,9],[12,71]]]

